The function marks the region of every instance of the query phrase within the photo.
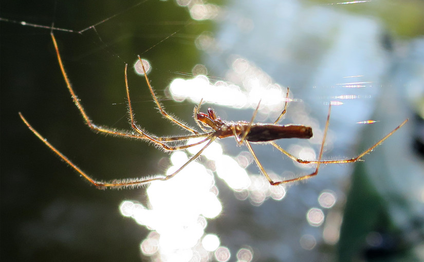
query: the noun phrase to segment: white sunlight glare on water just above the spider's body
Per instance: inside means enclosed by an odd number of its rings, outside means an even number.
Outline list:
[[[242,83],[242,86],[225,81],[211,83],[208,77],[198,75],[193,79],[178,78],[172,81],[171,96],[176,101],[188,98],[199,103],[200,99],[203,99],[205,103],[233,108],[254,108],[261,100],[260,111],[282,111],[286,101],[286,88],[273,83],[272,79],[253,63],[235,58],[229,74],[231,82]]]

